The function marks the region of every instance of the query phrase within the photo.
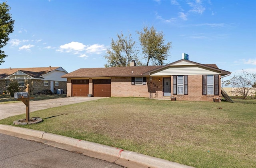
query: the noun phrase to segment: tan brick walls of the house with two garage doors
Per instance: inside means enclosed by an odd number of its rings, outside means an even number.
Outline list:
[[[220,77],[220,75],[219,75]],[[152,98],[163,97],[163,78],[152,77],[150,84],[147,77],[147,84],[142,86],[132,85],[131,77],[112,77],[111,78],[111,97],[150,97],[152,90]],[[151,87],[150,87],[151,86]],[[221,80],[219,80],[219,88]],[[67,96],[71,96],[71,79],[67,81]],[[171,95],[173,95],[173,76],[171,76]],[[176,100],[191,100],[191,101],[213,101],[214,97],[221,98],[221,89],[218,96],[202,95],[202,75],[188,76],[188,95],[174,95]]]

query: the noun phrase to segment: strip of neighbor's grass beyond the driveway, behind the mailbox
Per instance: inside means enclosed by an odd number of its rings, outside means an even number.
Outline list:
[[[31,95],[30,97],[34,97],[30,99],[30,101],[37,101],[37,100],[46,100],[46,99],[53,99],[53,98],[64,98],[66,94],[54,94],[54,95]],[[9,94],[0,94],[0,104],[6,103],[16,103],[20,102],[14,97],[10,97]]]

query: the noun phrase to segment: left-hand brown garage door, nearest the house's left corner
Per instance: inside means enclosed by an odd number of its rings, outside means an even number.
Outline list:
[[[89,80],[71,80],[72,96],[87,96],[89,94]]]

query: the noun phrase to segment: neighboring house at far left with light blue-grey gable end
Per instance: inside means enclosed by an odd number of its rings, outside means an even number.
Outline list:
[[[17,81],[20,91],[26,89],[26,84],[30,84],[32,94],[43,90],[51,90],[57,93],[58,89],[63,89],[66,93],[67,79],[61,78],[68,74],[62,67],[43,67],[43,68],[8,68],[0,69],[0,93],[7,90],[10,82]]]

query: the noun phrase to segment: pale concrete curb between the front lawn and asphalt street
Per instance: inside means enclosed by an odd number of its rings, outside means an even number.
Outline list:
[[[186,166],[183,164],[179,164],[176,162],[170,162],[168,160],[155,158],[152,156],[147,156],[144,154],[139,154],[137,152],[131,152],[128,150],[122,150],[120,148],[114,148],[111,146],[106,146],[102,144],[97,144],[94,142],[88,142],[85,140],[78,140],[75,138],[70,138],[66,136],[56,135],[44,131],[38,131],[38,130],[31,130],[28,128],[20,128],[16,126],[10,126],[10,125],[2,125],[0,124],[0,130],[14,132],[17,134],[23,134],[27,136],[33,136],[36,138],[54,141],[78,148],[82,148],[85,150],[98,152],[105,155],[115,156],[120,159],[124,160],[130,160],[132,162],[136,162],[139,164],[143,164],[148,167],[154,167],[154,168],[192,168],[191,166]]]

